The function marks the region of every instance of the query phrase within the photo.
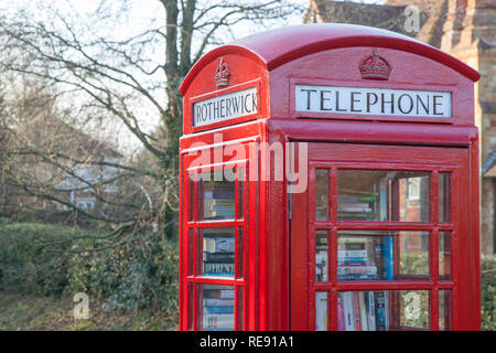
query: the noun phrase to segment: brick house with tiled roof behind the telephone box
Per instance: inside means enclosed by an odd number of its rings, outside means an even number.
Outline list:
[[[418,10],[418,32],[408,32],[405,25],[409,6]],[[496,253],[496,1],[387,0],[365,4],[311,0],[304,22],[354,23],[399,32],[457,57],[482,74],[475,84],[482,165],[481,249],[483,254]]]

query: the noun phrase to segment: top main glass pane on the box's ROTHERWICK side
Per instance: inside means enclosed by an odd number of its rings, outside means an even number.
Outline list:
[[[235,218],[235,182],[223,178],[222,171],[201,174],[201,215],[204,221]]]

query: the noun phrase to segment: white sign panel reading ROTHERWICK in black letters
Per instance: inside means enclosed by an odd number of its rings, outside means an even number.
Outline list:
[[[194,103],[193,126],[205,126],[256,113],[257,87],[250,87]]]

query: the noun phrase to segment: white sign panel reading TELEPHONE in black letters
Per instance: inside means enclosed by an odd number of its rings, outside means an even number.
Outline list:
[[[451,118],[450,92],[295,85],[296,111]]]

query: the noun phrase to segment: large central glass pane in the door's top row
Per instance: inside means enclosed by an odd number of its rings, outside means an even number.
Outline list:
[[[429,222],[429,173],[339,170],[337,220]]]

